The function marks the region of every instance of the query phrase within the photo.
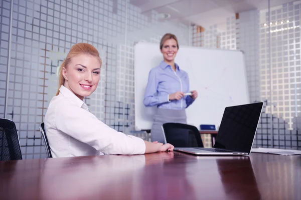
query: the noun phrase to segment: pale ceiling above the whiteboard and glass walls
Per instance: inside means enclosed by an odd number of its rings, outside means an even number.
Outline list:
[[[270,0],[270,7],[293,0]],[[141,8],[141,13],[150,16],[152,10],[170,14],[170,20],[208,27],[225,23],[228,16],[237,12],[268,8],[268,0],[130,0]]]

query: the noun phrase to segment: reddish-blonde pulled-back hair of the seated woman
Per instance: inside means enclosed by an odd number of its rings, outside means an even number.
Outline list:
[[[74,44],[71,47],[70,51],[68,52],[67,57],[64,59],[62,65],[60,66],[59,75],[58,75],[59,76],[59,88],[58,88],[58,91],[57,91],[56,95],[58,95],[60,93],[60,87],[62,85],[64,85],[64,83],[65,83],[65,78],[63,76],[63,67],[65,67],[65,69],[66,69],[68,64],[71,61],[71,58],[76,56],[76,55],[82,54],[82,53],[86,53],[86,54],[98,57],[99,61],[100,61],[100,66],[102,65],[102,61],[101,61],[101,58],[99,56],[99,52],[93,45],[88,44],[88,43]]]

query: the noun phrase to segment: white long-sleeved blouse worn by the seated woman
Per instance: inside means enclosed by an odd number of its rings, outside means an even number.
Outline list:
[[[145,152],[141,138],[107,126],[63,85],[51,99],[44,123],[53,157]]]

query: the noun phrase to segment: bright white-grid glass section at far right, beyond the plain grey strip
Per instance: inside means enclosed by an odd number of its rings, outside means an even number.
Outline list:
[[[300,4],[259,12],[260,96],[271,133],[266,146],[301,148]]]

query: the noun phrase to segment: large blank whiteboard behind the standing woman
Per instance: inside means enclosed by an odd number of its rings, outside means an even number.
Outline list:
[[[163,60],[159,44],[134,46],[135,129],[151,129],[157,106],[145,107],[144,91],[150,69]],[[198,98],[186,108],[187,123],[220,125],[226,106],[249,103],[245,61],[241,51],[180,46],[175,62],[189,75]]]

